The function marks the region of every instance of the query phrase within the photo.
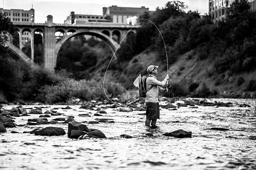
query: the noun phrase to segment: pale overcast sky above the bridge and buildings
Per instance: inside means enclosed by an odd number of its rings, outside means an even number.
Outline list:
[[[54,23],[64,23],[71,11],[75,14],[103,15],[103,7],[136,7],[144,6],[150,11],[157,7],[165,7],[171,0],[0,0],[0,8],[35,10],[35,23],[45,23],[47,15],[53,16]],[[188,8],[185,10],[198,11],[202,15],[208,13],[208,0],[180,0]]]

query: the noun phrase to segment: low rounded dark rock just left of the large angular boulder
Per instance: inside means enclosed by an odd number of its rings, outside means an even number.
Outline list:
[[[59,135],[65,135],[66,132],[62,128],[57,127],[46,127],[40,130],[35,131],[35,135],[41,135],[41,136],[59,136]]]

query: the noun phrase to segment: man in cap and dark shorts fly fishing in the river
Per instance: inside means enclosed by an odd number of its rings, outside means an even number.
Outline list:
[[[160,86],[164,86],[169,79],[169,75],[165,76],[162,82],[158,81],[155,75],[157,72],[158,66],[150,65],[147,68],[149,76],[146,80],[147,94],[145,98],[146,102],[146,122],[145,125],[151,127],[156,127],[157,119],[159,119],[159,102],[158,102],[158,92],[166,92],[167,89],[164,89]]]

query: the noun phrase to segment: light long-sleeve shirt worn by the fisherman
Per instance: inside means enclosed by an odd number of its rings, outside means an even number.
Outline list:
[[[166,84],[166,81],[163,80],[162,82],[158,81],[157,78],[153,75],[150,75],[146,80],[146,89],[147,94],[145,98],[145,102],[158,102],[158,92],[163,92],[165,89],[160,87],[164,86]],[[150,89],[150,87],[153,85],[153,88]],[[149,90],[150,89],[150,90]]]

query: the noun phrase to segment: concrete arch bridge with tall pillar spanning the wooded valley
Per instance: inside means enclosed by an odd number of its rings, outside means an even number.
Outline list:
[[[82,25],[70,25],[70,24],[55,24],[53,23],[52,15],[47,16],[45,23],[14,23],[16,29],[19,32],[20,49],[15,48],[10,43],[6,45],[14,51],[18,56],[24,60],[34,63],[34,33],[39,32],[42,35],[42,47],[43,47],[43,61],[44,67],[50,71],[54,71],[57,63],[57,55],[61,46],[69,39],[76,35],[86,34],[93,35],[105,41],[109,48],[114,53],[118,48],[119,43],[125,37],[129,30],[129,33],[135,33],[138,26],[132,26],[128,24],[120,23],[85,23]],[[29,31],[31,33],[31,60],[22,54],[21,39],[22,33]],[[61,41],[56,41],[55,33],[60,32],[63,34]]]

